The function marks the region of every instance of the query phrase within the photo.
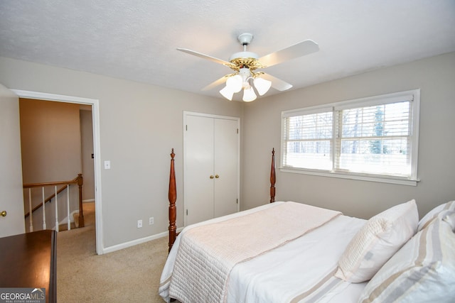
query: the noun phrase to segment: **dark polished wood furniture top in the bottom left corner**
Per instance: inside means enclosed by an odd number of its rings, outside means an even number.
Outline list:
[[[45,288],[46,302],[57,302],[55,231],[0,238],[0,287]]]

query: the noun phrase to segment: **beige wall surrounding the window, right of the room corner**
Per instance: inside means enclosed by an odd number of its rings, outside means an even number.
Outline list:
[[[302,71],[304,72],[304,71]],[[280,172],[280,115],[287,109],[421,89],[417,187]],[[269,153],[277,150],[277,200],[306,202],[370,218],[416,199],[419,214],[455,199],[455,53],[388,67],[245,104],[245,209],[268,199]],[[260,193],[260,194],[258,194]]]

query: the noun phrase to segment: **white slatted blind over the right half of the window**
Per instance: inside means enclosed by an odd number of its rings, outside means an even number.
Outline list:
[[[337,111],[335,170],[411,174],[412,101]]]

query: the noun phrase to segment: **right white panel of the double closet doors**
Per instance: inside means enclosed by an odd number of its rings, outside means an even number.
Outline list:
[[[237,128],[235,120],[214,119],[215,217],[238,210]]]

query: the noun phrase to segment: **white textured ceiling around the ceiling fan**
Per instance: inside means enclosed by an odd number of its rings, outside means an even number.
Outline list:
[[[265,70],[296,89],[455,51],[455,1],[0,0],[0,56],[214,97],[231,70],[176,48],[228,60],[244,32],[259,57],[319,44]]]

